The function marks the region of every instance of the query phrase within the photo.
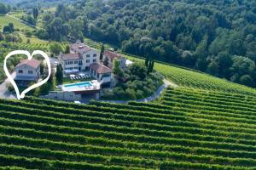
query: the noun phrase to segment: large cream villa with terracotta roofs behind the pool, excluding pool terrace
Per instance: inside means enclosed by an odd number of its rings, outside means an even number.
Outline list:
[[[108,66],[102,64],[100,53],[95,48],[90,48],[81,42],[75,42],[70,46],[70,54],[60,54],[59,62],[62,65],[64,77],[82,72],[94,77],[102,86],[109,86],[113,78],[113,59],[122,59],[122,61],[124,59],[110,50],[104,52],[103,59],[106,58],[108,58]]]

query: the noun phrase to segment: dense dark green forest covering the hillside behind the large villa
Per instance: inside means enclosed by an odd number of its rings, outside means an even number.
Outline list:
[[[80,0],[44,13],[43,23],[44,39],[90,37],[256,87],[253,0]]]

